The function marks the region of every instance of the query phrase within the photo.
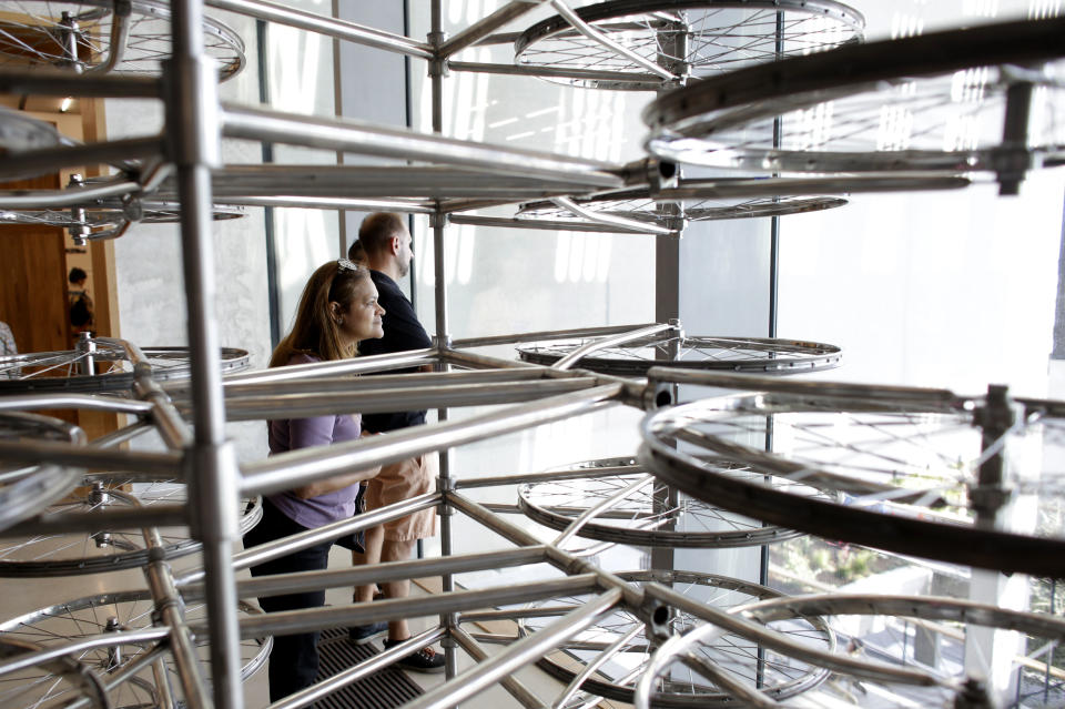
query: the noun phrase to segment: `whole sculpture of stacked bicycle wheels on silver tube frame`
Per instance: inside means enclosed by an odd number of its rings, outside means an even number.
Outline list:
[[[426,43],[273,3],[215,0],[258,20],[428,60],[434,72],[432,118],[439,128],[444,102],[438,79],[450,59],[536,3],[508,3],[448,40],[440,23],[442,6],[435,2],[434,39]],[[67,399],[74,402],[70,405],[115,409],[121,404],[121,411],[144,417],[87,446],[75,427],[31,414],[0,416],[7,426],[6,439],[0,440],[6,456],[0,472],[4,510],[0,531],[17,538],[0,551],[7,555],[0,557],[0,575],[68,575],[138,566],[150,589],[92,595],[0,624],[0,703],[205,707],[212,691],[206,680],[213,675],[219,703],[235,708],[242,706],[240,680],[245,672],[241,670],[251,672],[261,666],[271,634],[428,616],[439,622],[311,691],[327,695],[447,638],[448,681],[428,690],[416,706],[453,707],[498,683],[527,707],[592,706],[597,697],[641,707],[761,707],[802,692],[829,691],[833,675],[932,688],[943,692],[934,699],[973,706],[987,697],[963,676],[944,677],[929,669],[855,657],[855,638],[844,636],[840,639],[846,644],[838,642],[840,634],[830,618],[885,614],[1016,628],[1049,641],[1065,636],[1057,618],[941,599],[870,600],[841,595],[794,599],[765,586],[707,573],[615,574],[601,568],[594,556],[602,544],[577,551],[565,544],[571,535],[580,535],[640,547],[732,548],[811,533],[955,564],[1062,577],[1065,539],[1059,527],[1051,524],[1057,518],[1062,490],[1061,472],[1053,468],[1056,457],[1047,456],[1048,465],[1042,470],[1014,462],[1025,457],[1016,455],[1018,448],[1065,445],[1061,423],[1065,404],[1013,402],[997,389],[987,396],[962,397],[950,392],[814,386],[788,384],[781,377],[713,374],[707,371],[814,372],[838,366],[841,354],[839,347],[813,342],[686,336],[673,325],[579,342],[572,336],[576,331],[561,342],[552,340],[559,333],[539,333],[544,337],[537,341],[557,344],[523,346],[519,352],[526,365],[498,361],[444,344],[452,340],[443,253],[445,214],[528,200],[552,201],[551,211],[541,211],[548,209],[544,204],[528,204],[523,214],[548,225],[558,226],[559,219],[615,226],[620,222],[630,232],[676,236],[686,220],[779,216],[840,206],[842,197],[821,195],[839,194],[848,183],[868,191],[962,186],[967,178],[954,173],[983,170],[996,173],[1004,191],[1011,191],[1030,168],[1062,159],[1065,139],[1061,122],[1055,122],[1062,82],[1057,65],[1046,62],[1062,55],[1065,24],[1058,20],[1005,24],[863,48],[850,47],[861,39],[861,16],[831,0],[618,0],[577,11],[564,0],[551,4],[559,17],[521,33],[519,67],[507,67],[511,73],[600,89],[660,91],[690,84],[661,95],[646,113],[655,131],[648,146],[656,155],[763,173],[845,174],[826,179],[835,180],[831,190],[820,189],[829,182],[813,178],[674,184],[672,165],[657,158],[615,164],[264,107],[223,107],[215,101],[214,82],[240,69],[243,48],[224,26],[203,20],[195,0],[165,7],[154,0],[30,1],[12,3],[2,13],[0,57],[8,60],[3,73],[10,74],[19,91],[34,87],[26,78],[29,72],[22,71],[30,65],[72,69],[44,72],[40,81],[53,93],[70,88],[63,82],[79,72],[144,73],[149,75],[97,75],[82,81],[99,94],[163,97],[168,121],[162,132],[134,140],[132,146],[123,141],[69,146],[40,125],[7,125],[0,130],[2,146],[13,153],[24,144],[33,153],[27,162],[41,170],[83,166],[85,155],[92,162],[123,168],[122,178],[75,184],[64,194],[7,193],[0,209],[9,210],[4,212],[8,221],[43,222],[67,226],[83,239],[103,239],[136,221],[170,221],[174,216],[170,197],[174,196],[174,203],[195,212],[182,209],[179,217],[186,273],[204,284],[204,293],[190,292],[187,340],[203,345],[217,340],[212,304],[203,297],[213,294],[207,257],[212,240],[203,233],[211,224],[214,203],[210,178],[220,193],[225,192],[223,199],[233,203],[286,204],[286,199],[294,197],[315,206],[352,207],[353,194],[390,200],[389,204],[399,205],[396,209],[436,217],[433,230],[440,257],[435,284],[444,317],[437,320],[440,344],[419,353],[240,375],[225,388],[215,381],[219,377],[193,382],[195,386],[187,388],[194,402],[194,435],[182,421],[182,413],[189,412],[180,411],[156,385],[176,379],[179,384],[168,389],[182,389],[180,382],[193,369],[184,348],[141,352],[121,341],[85,337],[71,352],[0,359],[0,393],[19,395],[8,398],[9,406],[19,402],[27,408],[44,408],[63,398],[55,396],[58,392],[121,393],[122,397]],[[202,36],[209,40],[205,48]],[[162,81],[160,62],[169,58],[171,47],[182,52],[175,67],[195,70],[174,71]],[[946,59],[931,61],[933,54]],[[221,77],[212,74],[207,57],[221,60]],[[463,69],[460,62],[454,63],[456,71]],[[982,69],[986,63],[993,68]],[[836,68],[851,77],[835,75]],[[726,70],[734,71],[713,75]],[[937,90],[944,81],[953,93]],[[886,105],[885,83],[892,84],[888,93],[894,92]],[[202,103],[187,101],[189,97],[202,98]],[[997,101],[996,115],[1004,117],[991,132],[977,126],[988,97]],[[826,101],[835,102],[832,111]],[[780,124],[771,126],[781,113]],[[1028,113],[1053,120],[1030,122]],[[911,131],[925,115],[933,130]],[[414,166],[217,169],[213,146],[203,144],[209,135],[355,153]],[[133,158],[125,154],[133,149]],[[18,170],[17,158],[0,155],[8,174]],[[170,160],[176,175],[168,186],[163,178]],[[875,174],[899,171],[914,171],[920,180]],[[854,172],[872,176],[851,181]],[[72,200],[79,191],[85,199]],[[334,199],[347,201],[328,202]],[[722,202],[704,202],[708,199]],[[379,206],[368,201],[359,204]],[[215,210],[220,214],[229,216],[225,210]],[[193,351],[211,367],[196,371],[213,374],[215,346],[199,345]],[[243,367],[247,355],[226,350],[221,359],[227,373]],[[661,368],[663,363],[671,367]],[[460,371],[365,377],[378,379],[376,387],[358,376],[424,365]],[[248,504],[260,494],[426,453],[446,456],[457,446],[598,414],[611,406],[653,408],[672,403],[662,393],[673,384],[742,392],[648,415],[638,462],[596,460],[534,476],[538,482],[521,488],[519,507],[562,533],[551,543],[467,497],[452,467],[445,465],[438,492],[310,535],[236,555],[232,551],[236,535],[255,523],[258,510]],[[131,402],[130,395],[148,401]],[[252,462],[239,462],[224,434],[226,413],[231,421],[243,421],[440,406],[499,408],[463,418],[440,416],[424,428]],[[168,450],[114,449],[118,442],[150,424],[158,426]],[[88,475],[85,468],[91,468]],[[528,479],[524,474],[501,476],[484,486]],[[78,484],[84,487],[75,489]],[[194,494],[197,497],[190,500]],[[1039,497],[1036,514],[1026,526],[1018,524],[1023,515],[1014,514],[1013,506],[1027,503],[1033,494]],[[231,503],[245,513],[240,524]],[[341,574],[234,578],[236,570],[292,554],[297,547],[434,508],[442,510],[444,558]],[[480,531],[497,535],[514,548],[453,555],[453,514],[465,515]],[[41,530],[47,534],[38,535]],[[197,544],[203,568],[175,574],[169,559]],[[550,570],[544,574],[547,566]],[[488,576],[516,567],[529,567],[523,573],[534,580],[503,578],[495,586],[476,589],[455,583],[459,574]],[[443,590],[428,598],[284,614],[260,614],[235,602],[239,597],[285,595],[297,588],[349,589],[353,579],[388,583],[434,576],[442,578]],[[193,606],[201,596],[207,599],[207,619],[197,617],[199,608]],[[518,632],[504,637],[467,630],[471,622],[491,619],[518,619]],[[507,647],[493,656],[480,640],[503,641]],[[838,651],[839,646],[846,651]],[[456,647],[476,667],[459,672]],[[197,667],[207,648],[211,673]],[[687,669],[674,672],[671,668],[678,659]],[[517,678],[516,669],[532,662],[568,682],[560,695],[555,688],[555,700],[532,696]],[[171,672],[179,681],[170,679]],[[174,687],[180,687],[181,697],[171,692]],[[305,695],[293,703],[305,706],[318,698]],[[818,700],[813,697],[810,702]]]

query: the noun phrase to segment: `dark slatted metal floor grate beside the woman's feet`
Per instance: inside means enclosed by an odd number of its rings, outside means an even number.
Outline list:
[[[323,630],[318,639],[317,681],[368,660],[377,654],[377,642],[355,645],[347,639],[347,628]],[[318,699],[314,706],[316,709],[395,709],[420,693],[422,689],[403,670],[388,667]]]

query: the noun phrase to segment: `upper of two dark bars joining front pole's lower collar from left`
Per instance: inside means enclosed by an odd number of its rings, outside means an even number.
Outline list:
[[[51,440],[0,440],[0,460],[159,473],[169,477],[181,477],[184,469],[182,457],[173,453],[114,450]]]

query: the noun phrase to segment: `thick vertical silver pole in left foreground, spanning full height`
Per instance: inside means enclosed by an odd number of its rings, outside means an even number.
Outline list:
[[[192,355],[194,443],[186,454],[193,535],[203,545],[211,680],[219,709],[244,706],[241,688],[236,584],[231,563],[236,539],[240,470],[225,442],[225,407],[211,250],[211,166],[221,163],[217,69],[206,57],[200,0],[174,0],[173,58],[166,71],[166,135],[178,165],[181,241]]]

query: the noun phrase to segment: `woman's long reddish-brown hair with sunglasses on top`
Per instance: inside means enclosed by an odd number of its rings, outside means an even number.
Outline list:
[[[336,261],[318,266],[300,296],[292,332],[274,348],[270,366],[288,364],[294,354],[308,354],[322,361],[355,356],[355,345],[345,345],[341,340],[329,303],[337,303],[342,311],[347,311],[355,301],[358,283],[368,277],[366,269],[342,266]]]

